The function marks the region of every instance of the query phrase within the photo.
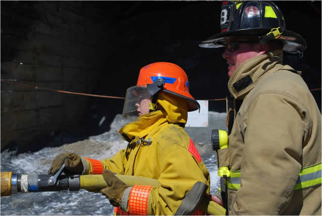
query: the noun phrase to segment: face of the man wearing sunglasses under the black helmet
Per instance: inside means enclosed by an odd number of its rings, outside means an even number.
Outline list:
[[[232,40],[230,40],[232,41]],[[227,41],[230,42],[230,41]],[[235,40],[234,40],[235,41]],[[238,41],[238,40],[236,40]],[[265,53],[265,52],[264,52]],[[222,57],[227,60],[228,64],[228,77],[234,73],[235,69],[244,61],[263,54],[257,49],[257,45],[253,42],[239,43],[237,48],[231,52],[228,48],[222,53]]]

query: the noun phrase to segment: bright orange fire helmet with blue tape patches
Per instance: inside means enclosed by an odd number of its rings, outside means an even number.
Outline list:
[[[186,99],[188,112],[200,108],[199,103],[189,93],[187,74],[177,64],[155,62],[142,67],[136,85],[147,86],[150,96],[161,91]]]

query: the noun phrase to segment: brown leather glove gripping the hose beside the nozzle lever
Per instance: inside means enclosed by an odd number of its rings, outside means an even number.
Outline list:
[[[48,174],[56,173],[62,164],[65,164],[64,172],[66,174],[82,174],[84,170],[81,157],[73,153],[61,153],[53,160]]]

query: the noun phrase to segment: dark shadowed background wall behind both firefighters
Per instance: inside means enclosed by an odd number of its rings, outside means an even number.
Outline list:
[[[302,35],[308,45],[302,59],[285,53],[285,63],[303,71],[309,89],[320,88],[321,2],[275,3],[284,14],[286,28]],[[220,5],[208,1],[1,1],[1,79],[124,97],[126,89],[136,84],[141,67],[169,61],[186,71],[197,100],[224,98],[229,92],[223,50],[198,47],[219,31]],[[320,107],[321,92],[312,94]],[[120,99],[1,83],[1,150],[36,150],[103,133],[122,107]],[[209,110],[225,112],[225,102],[209,102]]]

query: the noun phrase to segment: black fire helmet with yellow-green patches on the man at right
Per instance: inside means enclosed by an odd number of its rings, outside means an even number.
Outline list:
[[[239,2],[239,3],[238,3]],[[283,51],[303,56],[306,41],[299,34],[286,30],[280,9],[269,1],[223,1],[220,14],[221,32],[199,44],[204,48],[226,46],[227,37],[249,37],[261,44],[277,39]]]

